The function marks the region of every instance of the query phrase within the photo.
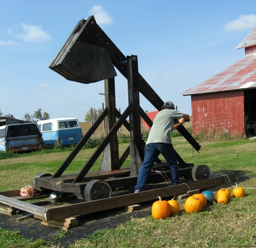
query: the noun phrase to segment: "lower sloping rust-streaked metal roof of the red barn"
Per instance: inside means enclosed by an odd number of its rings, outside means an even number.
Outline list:
[[[256,88],[256,57],[240,60],[210,79],[183,92],[184,96]]]

